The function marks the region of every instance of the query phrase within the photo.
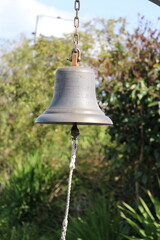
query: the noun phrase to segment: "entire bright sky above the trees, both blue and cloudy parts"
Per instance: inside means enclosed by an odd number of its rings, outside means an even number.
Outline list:
[[[125,17],[128,29],[138,23],[138,13],[160,29],[160,7],[148,0],[80,0],[81,22],[92,18]],[[38,16],[38,18],[37,18]],[[73,32],[74,0],[0,0],[0,39],[17,39],[20,34],[61,37]],[[57,19],[61,17],[61,19]],[[36,28],[36,19],[37,28]]]

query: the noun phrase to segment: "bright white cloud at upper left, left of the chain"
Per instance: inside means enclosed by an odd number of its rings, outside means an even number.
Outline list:
[[[37,0],[1,0],[0,1],[0,38],[16,38],[24,33],[31,37],[35,31],[38,17],[37,35],[62,36],[73,31],[73,22],[56,19],[73,19],[73,14],[49,7]],[[51,17],[55,18],[51,18]]]

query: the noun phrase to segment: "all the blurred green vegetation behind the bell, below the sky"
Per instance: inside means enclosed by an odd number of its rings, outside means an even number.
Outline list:
[[[160,32],[143,17],[94,19],[80,33],[111,127],[80,127],[68,238],[160,239]],[[72,35],[22,36],[0,54],[0,239],[60,236],[70,159],[69,126],[34,123],[50,104]],[[148,194],[146,191],[149,190]],[[122,203],[123,202],[123,203]]]

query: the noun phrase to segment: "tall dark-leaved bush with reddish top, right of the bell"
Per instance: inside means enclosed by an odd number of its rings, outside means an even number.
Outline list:
[[[101,106],[114,123],[108,128],[111,142],[105,147],[105,159],[112,172],[110,181],[117,179],[118,199],[132,199],[133,195],[138,198],[140,186],[149,187],[156,194],[160,159],[160,33],[143,18],[132,34],[125,30],[123,21],[110,34],[102,23],[98,30],[103,36],[98,41],[98,56],[88,59],[88,63],[97,73]],[[93,36],[97,33],[96,25],[88,28]],[[107,38],[110,35],[111,40]]]

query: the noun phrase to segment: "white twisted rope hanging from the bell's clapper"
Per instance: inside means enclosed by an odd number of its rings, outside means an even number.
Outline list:
[[[70,171],[69,171],[69,179],[68,179],[66,211],[65,211],[64,220],[62,223],[62,232],[61,232],[60,240],[66,240],[66,233],[67,233],[67,226],[68,226],[68,213],[69,213],[71,187],[72,187],[72,176],[73,176],[73,170],[75,169],[75,162],[76,162],[76,151],[77,151],[78,139],[71,138],[71,141],[72,141],[72,154],[71,154],[71,161],[69,165]]]

